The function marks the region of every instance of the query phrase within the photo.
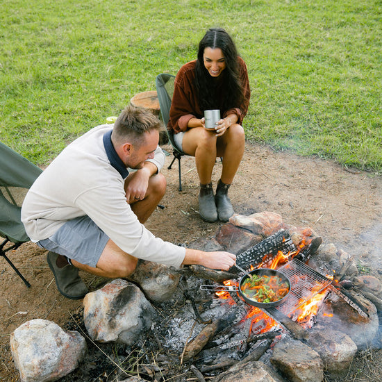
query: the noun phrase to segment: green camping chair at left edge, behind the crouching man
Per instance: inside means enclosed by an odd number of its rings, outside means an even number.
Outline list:
[[[28,188],[41,172],[42,169],[0,142],[0,236],[5,239],[0,244],[0,256],[8,261],[28,288],[31,284],[13,265],[6,252],[30,240],[21,221],[21,206]],[[13,244],[6,248],[7,243]]]

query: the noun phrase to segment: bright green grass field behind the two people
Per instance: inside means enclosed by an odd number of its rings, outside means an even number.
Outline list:
[[[381,0],[4,0],[0,139],[49,163],[223,26],[249,68],[249,140],[381,173],[381,13]]]

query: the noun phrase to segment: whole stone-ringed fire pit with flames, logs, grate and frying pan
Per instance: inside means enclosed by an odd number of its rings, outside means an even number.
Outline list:
[[[330,381],[380,336],[375,280],[349,276],[356,272],[351,256],[322,245],[311,229],[272,213],[234,215],[213,238],[192,243],[198,246],[235,253],[237,266],[222,272],[140,262],[128,281],[85,297],[83,333],[126,357],[123,369],[114,362],[109,371],[118,380],[240,382],[256,374],[320,382],[326,373]],[[105,375],[102,381],[111,380]]]

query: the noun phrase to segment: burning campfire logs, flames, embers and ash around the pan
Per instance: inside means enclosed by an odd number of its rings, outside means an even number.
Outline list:
[[[246,272],[251,273],[254,269],[274,269],[286,276],[290,281],[290,292],[281,304],[264,304],[265,308],[248,304],[240,293],[240,280],[247,277],[244,272],[238,272],[223,282],[212,281],[199,286],[201,292],[207,299],[209,296],[211,301],[198,307],[195,306],[197,299],[194,298],[194,314],[204,327],[197,335],[191,335],[192,338],[186,340],[181,355],[182,363],[193,361],[201,371],[210,372],[208,375],[211,376],[217,375],[214,370],[221,372],[229,365],[258,359],[269,365],[276,365],[281,370],[285,363],[292,362],[294,366],[288,367],[293,369],[298,367],[297,364],[301,364],[298,357],[293,362],[290,359],[285,360],[285,356],[280,360],[272,355],[279,351],[279,343],[290,341],[290,346],[294,346],[293,341],[298,341],[301,346],[310,344],[314,347],[314,342],[318,341],[319,347],[325,341],[328,342],[319,338],[320,335],[329,335],[332,338],[339,336],[338,343],[347,343],[347,339],[341,337],[342,333],[339,334],[339,330],[333,329],[341,329],[342,325],[345,327],[347,320],[354,324],[349,326],[349,333],[356,330],[363,333],[369,330],[365,327],[373,321],[372,316],[376,315],[376,311],[372,312],[367,303],[352,298],[343,288],[338,289],[335,277],[339,275],[335,274],[335,270],[326,268],[324,272],[317,272],[310,267],[310,256],[315,254],[322,240],[314,237],[309,229],[300,231],[299,235],[301,240],[294,242],[296,240],[292,240],[287,230],[280,229],[237,255],[239,267]],[[231,272],[235,272],[235,269],[231,269]],[[358,329],[355,329],[356,326],[359,326]],[[372,326],[375,334],[374,324],[367,328]],[[183,330],[191,331],[185,326]],[[174,332],[170,334],[172,335]],[[357,335],[354,335],[354,338],[359,340]],[[325,366],[320,361],[316,362],[313,356],[306,361],[304,367],[312,367],[315,370],[325,367],[326,371],[334,374],[344,372],[344,366],[329,365],[330,358],[338,356],[338,346],[330,344],[329,347],[335,350],[331,352],[330,349],[325,349],[327,354],[322,357]],[[362,348],[363,344],[358,343],[358,347]],[[354,355],[357,347],[347,344],[347,349],[352,349]],[[302,351],[306,350],[301,349]],[[350,361],[351,358],[352,356]],[[322,372],[320,374],[317,370],[315,380],[322,381]],[[292,378],[291,374],[289,378]]]

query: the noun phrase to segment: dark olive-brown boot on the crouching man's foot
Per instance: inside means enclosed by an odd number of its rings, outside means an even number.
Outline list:
[[[78,276],[78,268],[69,263],[61,268],[58,267],[56,263],[58,256],[58,254],[50,251],[47,255],[47,262],[51,272],[53,272],[54,279],[56,279],[58,292],[68,299],[83,299],[88,293],[88,288]]]

